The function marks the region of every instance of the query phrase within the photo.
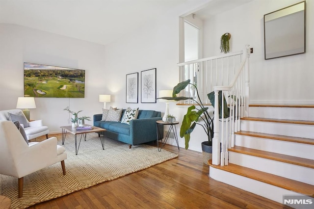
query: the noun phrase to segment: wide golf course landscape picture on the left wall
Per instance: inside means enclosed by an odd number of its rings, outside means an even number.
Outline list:
[[[85,70],[25,62],[24,96],[84,98]]]

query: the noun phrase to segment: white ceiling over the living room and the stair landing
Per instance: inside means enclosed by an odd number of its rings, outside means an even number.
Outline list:
[[[0,23],[106,45],[187,1],[192,0],[0,0]],[[203,17],[250,0],[208,1]]]

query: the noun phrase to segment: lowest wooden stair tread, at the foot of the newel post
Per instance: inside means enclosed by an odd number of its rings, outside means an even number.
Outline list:
[[[221,169],[227,172],[231,172],[240,176],[244,176],[250,179],[254,179],[263,183],[268,183],[274,186],[278,186],[287,190],[291,190],[300,194],[304,194],[310,197],[314,197],[314,185],[298,182],[295,180],[287,179],[284,177],[276,176],[273,174],[265,173],[262,171],[254,170],[251,168],[243,167],[229,163],[229,165],[213,165],[209,161],[209,166]]]

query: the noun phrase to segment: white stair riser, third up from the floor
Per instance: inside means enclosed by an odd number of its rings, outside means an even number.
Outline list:
[[[314,160],[314,145],[235,134],[235,146]]]

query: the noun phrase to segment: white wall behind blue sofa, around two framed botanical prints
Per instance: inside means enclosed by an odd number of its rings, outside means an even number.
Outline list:
[[[172,13],[163,14],[155,23],[137,29],[134,33],[125,36],[105,47],[105,70],[107,87],[114,92],[112,105],[119,107],[130,106],[140,109],[154,109],[163,113],[165,104],[157,101],[156,104],[143,104],[140,100],[140,73],[143,70],[157,68],[157,97],[159,90],[173,89],[179,82],[179,16],[193,7],[193,2],[178,8]],[[119,73],[117,73],[119,72]],[[139,103],[126,104],[126,74],[139,73]],[[169,104],[169,112],[182,121],[186,108]],[[177,126],[179,134],[180,126]],[[204,131],[202,131],[203,133]],[[202,134],[203,135],[203,134]],[[192,139],[190,148],[201,150],[204,137]],[[174,140],[169,143],[176,145]],[[180,147],[184,147],[184,139],[179,136]]]

